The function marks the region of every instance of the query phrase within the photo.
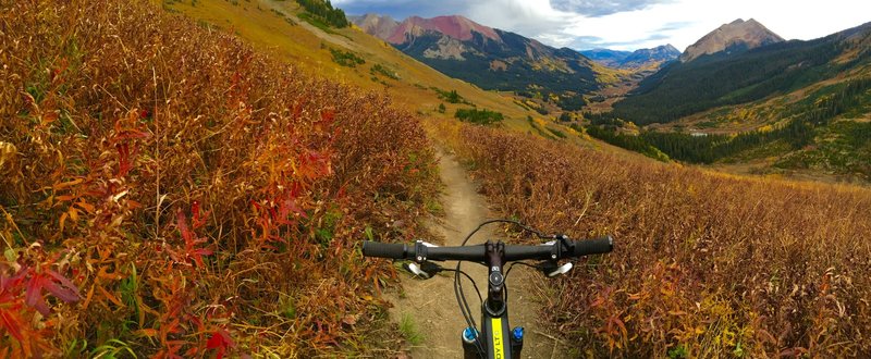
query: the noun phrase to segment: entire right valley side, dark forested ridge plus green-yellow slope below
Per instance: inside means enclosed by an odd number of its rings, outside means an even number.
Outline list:
[[[868,183],[869,44],[866,24],[675,62],[613,112],[587,116],[587,133],[653,158],[734,173]]]

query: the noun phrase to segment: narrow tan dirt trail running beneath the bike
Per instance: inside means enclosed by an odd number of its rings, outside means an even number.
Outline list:
[[[440,154],[439,170],[446,186],[445,193],[442,194],[446,215],[442,223],[431,224],[431,228],[445,238],[445,246],[457,246],[471,230],[493,215],[488,209],[486,199],[478,194],[477,185],[459,163],[451,156]],[[498,227],[498,225],[489,226]],[[493,238],[492,232],[484,230],[469,239],[469,243],[478,244]],[[443,265],[454,268],[456,262],[445,262]],[[475,278],[479,288],[483,290],[481,296],[486,297],[487,270],[482,265],[470,263],[465,263],[463,268]],[[438,275],[428,281],[414,278],[404,271],[401,275],[404,292],[389,296],[394,304],[390,310],[391,317],[400,322],[403,315],[410,315],[425,337],[420,345],[412,348],[412,358],[462,358],[459,335],[466,327],[466,322],[454,295],[453,273]],[[536,286],[532,281],[542,280],[539,273],[526,267],[517,265],[512,270],[507,278],[508,319],[512,327],[520,325],[526,330],[523,358],[567,358],[561,343],[554,341],[550,334],[544,334],[544,330],[538,323],[541,305],[533,299]],[[468,281],[464,282],[464,289],[469,307],[475,313],[475,321],[480,325],[480,307],[475,289]]]

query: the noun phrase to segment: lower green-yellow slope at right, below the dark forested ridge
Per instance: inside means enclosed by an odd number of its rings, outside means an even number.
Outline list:
[[[647,156],[740,174],[871,182],[871,69],[784,96],[637,129],[611,113],[587,133]],[[621,129],[623,128],[623,129]],[[635,134],[625,128],[636,128]]]

